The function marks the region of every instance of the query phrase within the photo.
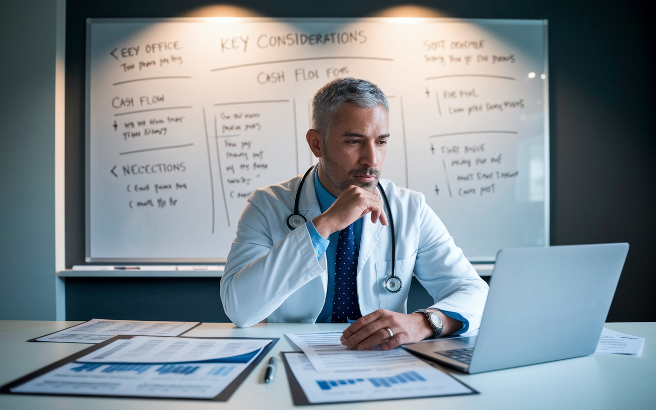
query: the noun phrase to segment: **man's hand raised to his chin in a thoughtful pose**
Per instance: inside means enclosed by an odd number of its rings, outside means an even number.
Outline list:
[[[371,212],[371,222],[387,225],[378,190],[369,192],[359,186],[351,185],[335,200],[324,213],[312,220],[319,235],[326,239],[333,232],[340,231],[367,213]]]

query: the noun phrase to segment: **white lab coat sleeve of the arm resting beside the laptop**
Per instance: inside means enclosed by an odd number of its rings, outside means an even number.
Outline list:
[[[430,307],[460,314],[469,322],[464,333],[469,334],[480,327],[489,287],[455,245],[440,218],[426,205],[423,194],[419,201],[415,276],[436,301]]]

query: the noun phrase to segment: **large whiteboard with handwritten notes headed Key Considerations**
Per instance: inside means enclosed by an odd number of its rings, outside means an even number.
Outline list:
[[[548,245],[545,20],[87,20],[87,261],[222,261],[256,188],[316,162],[314,92],[388,96],[382,178],[471,261]]]

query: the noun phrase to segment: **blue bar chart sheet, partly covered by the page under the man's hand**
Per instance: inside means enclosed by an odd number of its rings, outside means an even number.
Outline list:
[[[450,375],[405,350],[412,359],[405,367],[371,363],[369,369],[340,373],[317,371],[308,356],[285,353],[289,368],[310,403],[389,400],[476,393]]]

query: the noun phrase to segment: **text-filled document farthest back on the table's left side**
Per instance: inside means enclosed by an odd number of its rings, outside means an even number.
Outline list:
[[[116,335],[180,336],[199,321],[142,321],[91,319],[68,329],[36,338],[38,342],[100,343]]]

